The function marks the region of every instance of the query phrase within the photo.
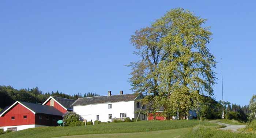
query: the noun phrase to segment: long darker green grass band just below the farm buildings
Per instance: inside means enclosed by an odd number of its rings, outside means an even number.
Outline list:
[[[215,123],[200,122],[197,120],[180,120],[180,121],[141,121],[141,122],[124,122],[108,123],[89,126],[74,127],[36,127],[32,129],[21,130],[12,133],[0,135],[1,138],[51,138],[70,135],[84,134],[110,134],[110,133],[135,133],[158,130],[170,130],[189,128],[196,125],[217,126]]]

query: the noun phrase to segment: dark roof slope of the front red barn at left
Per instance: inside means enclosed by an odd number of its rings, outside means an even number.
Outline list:
[[[29,109],[33,110],[35,113],[41,113],[41,114],[51,114],[51,115],[63,115],[59,110],[54,108],[53,106],[49,105],[41,105],[41,104],[35,104],[35,103],[29,103],[29,102],[20,102]]]

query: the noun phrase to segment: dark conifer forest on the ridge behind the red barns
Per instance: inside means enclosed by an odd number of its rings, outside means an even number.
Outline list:
[[[15,101],[23,101],[23,102],[31,102],[31,103],[43,103],[50,96],[57,96],[68,99],[78,99],[80,97],[93,97],[100,96],[97,93],[82,93],[69,95],[59,91],[56,92],[46,92],[43,93],[38,87],[33,89],[14,89],[12,86],[1,86],[0,85],[0,108],[4,108],[5,106],[9,106]]]

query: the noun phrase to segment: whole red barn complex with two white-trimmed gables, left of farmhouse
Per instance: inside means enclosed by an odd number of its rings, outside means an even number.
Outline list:
[[[0,129],[19,131],[39,126],[57,126],[57,121],[75,100],[49,97],[42,105],[16,101],[0,112]]]

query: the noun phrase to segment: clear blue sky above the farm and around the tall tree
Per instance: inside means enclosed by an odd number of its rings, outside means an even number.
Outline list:
[[[0,1],[0,85],[67,94],[132,93],[133,33],[182,7],[207,18],[216,57],[215,95],[248,104],[256,94],[256,3],[252,1]]]

